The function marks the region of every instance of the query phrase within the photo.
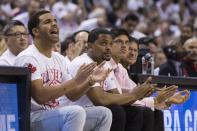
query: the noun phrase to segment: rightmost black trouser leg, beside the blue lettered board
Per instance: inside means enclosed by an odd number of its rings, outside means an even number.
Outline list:
[[[155,109],[154,116],[155,116],[154,131],[164,131],[163,112]]]

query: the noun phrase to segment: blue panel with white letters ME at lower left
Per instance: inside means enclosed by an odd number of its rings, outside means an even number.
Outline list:
[[[19,131],[17,99],[16,84],[0,83],[0,131]]]

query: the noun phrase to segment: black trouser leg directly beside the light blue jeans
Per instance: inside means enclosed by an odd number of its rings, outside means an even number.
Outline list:
[[[107,106],[112,112],[112,125],[110,131],[124,131],[126,114],[122,106],[110,105]]]

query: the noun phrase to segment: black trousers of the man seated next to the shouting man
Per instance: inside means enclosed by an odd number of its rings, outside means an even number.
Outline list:
[[[111,105],[112,126],[110,131],[141,131],[143,110],[135,106]]]

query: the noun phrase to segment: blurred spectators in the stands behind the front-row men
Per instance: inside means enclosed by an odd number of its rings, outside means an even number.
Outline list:
[[[0,33],[8,21],[27,26],[29,16],[47,9],[57,18],[62,50],[76,42],[72,35],[79,30],[122,27],[138,40],[139,56],[154,56],[156,75],[196,77],[196,8],[196,0],[1,0]],[[5,50],[0,36],[0,54]],[[64,55],[72,57],[73,52]],[[132,73],[141,73],[136,69],[140,62],[130,67]]]

